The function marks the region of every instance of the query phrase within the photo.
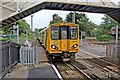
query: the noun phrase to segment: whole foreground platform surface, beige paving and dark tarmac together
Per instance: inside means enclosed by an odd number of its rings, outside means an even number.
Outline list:
[[[35,65],[34,68],[28,69],[26,66],[20,66],[8,73],[4,79],[25,79],[25,80],[59,80],[55,70],[49,63]]]

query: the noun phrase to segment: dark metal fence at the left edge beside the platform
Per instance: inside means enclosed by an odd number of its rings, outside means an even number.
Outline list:
[[[16,43],[0,42],[0,79],[19,62],[19,49]]]

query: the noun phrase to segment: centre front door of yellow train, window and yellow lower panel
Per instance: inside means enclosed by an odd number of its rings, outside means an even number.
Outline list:
[[[60,33],[61,33],[61,50],[67,51],[68,48],[68,41],[67,41],[67,26],[61,26],[60,27]]]

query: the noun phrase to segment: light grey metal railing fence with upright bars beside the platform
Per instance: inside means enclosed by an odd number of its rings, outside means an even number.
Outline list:
[[[21,64],[24,64],[25,66],[33,66],[35,63],[35,58],[34,58],[34,47],[26,47],[26,46],[21,46],[20,49],[20,62]]]

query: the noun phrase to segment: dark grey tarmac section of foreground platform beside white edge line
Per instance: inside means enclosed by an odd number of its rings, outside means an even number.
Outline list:
[[[41,63],[36,68],[30,69],[28,71],[28,79],[38,78],[38,79],[58,79],[58,76],[50,64]]]

